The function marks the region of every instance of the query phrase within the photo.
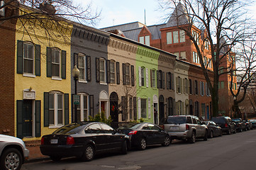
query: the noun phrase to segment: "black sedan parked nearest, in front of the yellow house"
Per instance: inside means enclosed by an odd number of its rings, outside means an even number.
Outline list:
[[[71,123],[41,139],[40,151],[53,161],[62,157],[79,157],[91,161],[101,152],[118,151],[127,154],[128,135],[117,133],[110,126],[99,122]]]

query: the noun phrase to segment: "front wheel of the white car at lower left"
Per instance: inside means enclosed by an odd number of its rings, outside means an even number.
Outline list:
[[[23,162],[23,157],[21,152],[15,148],[9,148],[4,151],[1,155],[0,169],[9,170],[9,169],[21,169]]]

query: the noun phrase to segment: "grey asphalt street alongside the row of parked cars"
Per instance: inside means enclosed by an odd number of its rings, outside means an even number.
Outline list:
[[[145,151],[132,150],[126,155],[112,153],[96,156],[91,162],[76,158],[60,162],[23,164],[22,170],[77,170],[77,169],[255,169],[256,130],[223,135],[208,141],[196,140],[189,144],[174,141],[169,147],[148,147]]]

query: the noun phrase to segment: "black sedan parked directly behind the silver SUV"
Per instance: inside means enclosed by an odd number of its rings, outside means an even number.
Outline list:
[[[125,125],[118,130],[129,135],[132,147],[141,150],[146,149],[148,145],[162,144],[162,146],[168,146],[171,143],[168,133],[152,123]]]

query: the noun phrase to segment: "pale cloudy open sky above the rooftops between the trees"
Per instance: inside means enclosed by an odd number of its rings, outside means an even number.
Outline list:
[[[159,8],[157,0],[74,0],[74,2],[78,2],[82,6],[91,2],[94,9],[102,10],[101,21],[95,26],[96,28],[106,28],[135,21],[145,23],[145,18],[147,26],[164,22],[162,20],[164,14],[157,10]],[[256,18],[255,4],[251,5],[251,8]]]

